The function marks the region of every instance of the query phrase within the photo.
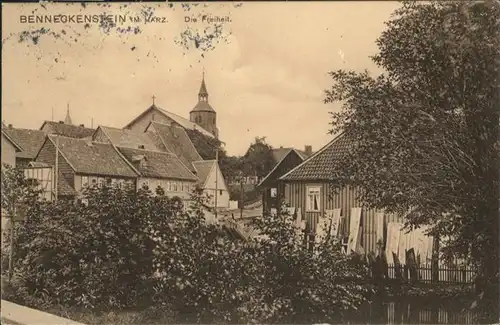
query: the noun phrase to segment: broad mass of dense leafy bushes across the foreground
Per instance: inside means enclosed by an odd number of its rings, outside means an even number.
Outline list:
[[[199,190],[187,212],[148,190],[86,196],[86,205],[31,205],[5,298],[42,309],[156,306],[179,322],[290,323],[341,321],[368,294],[365,265],[333,240],[306,249],[290,216],[255,221],[262,237],[245,242],[205,223]]]

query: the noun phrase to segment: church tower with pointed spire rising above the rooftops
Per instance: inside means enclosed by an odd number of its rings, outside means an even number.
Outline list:
[[[219,136],[219,130],[217,129],[217,113],[208,103],[205,73],[203,73],[200,91],[198,92],[198,104],[189,112],[189,120],[212,133],[215,137]]]

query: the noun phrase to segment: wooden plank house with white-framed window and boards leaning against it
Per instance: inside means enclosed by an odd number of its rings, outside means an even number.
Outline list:
[[[283,182],[285,202],[300,210],[308,232],[315,233],[323,217],[337,210],[341,215],[338,234],[343,242],[347,245],[355,232],[358,248],[366,253],[376,253],[379,240],[384,245],[387,243],[388,224],[402,219],[366,208],[357,200],[355,188],[346,186],[334,192],[331,186],[335,182],[332,162],[343,159],[349,145],[348,137],[341,134],[279,179]]]

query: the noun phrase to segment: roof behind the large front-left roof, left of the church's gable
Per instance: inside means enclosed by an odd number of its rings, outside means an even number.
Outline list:
[[[108,126],[99,126],[99,128],[108,136],[111,143],[115,146],[139,149],[139,146],[142,145],[146,150],[161,150],[149,133],[134,132],[127,129],[117,129]]]

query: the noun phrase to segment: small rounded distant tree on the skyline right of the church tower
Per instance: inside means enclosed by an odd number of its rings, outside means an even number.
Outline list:
[[[272,150],[265,137],[256,137],[242,159],[244,174],[259,178],[266,176],[276,164]]]

